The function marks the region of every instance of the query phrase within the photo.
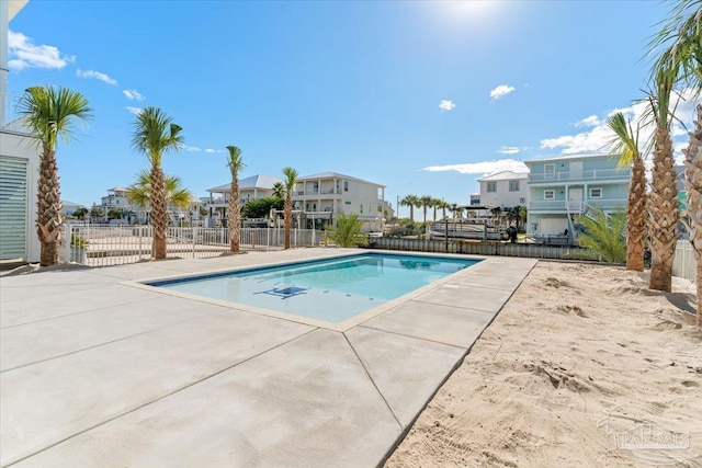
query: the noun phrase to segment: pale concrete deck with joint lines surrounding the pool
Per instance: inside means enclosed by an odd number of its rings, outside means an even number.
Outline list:
[[[536,260],[487,258],[344,331],[128,283],[347,252],[0,277],[0,466],[378,465]]]

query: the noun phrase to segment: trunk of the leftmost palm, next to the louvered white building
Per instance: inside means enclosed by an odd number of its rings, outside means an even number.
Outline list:
[[[61,191],[56,151],[47,145],[43,146],[39,158],[36,233],[41,243],[39,265],[56,265],[61,233]]]

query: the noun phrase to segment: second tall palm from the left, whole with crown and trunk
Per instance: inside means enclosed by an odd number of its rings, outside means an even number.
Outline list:
[[[168,199],[161,159],[165,152],[178,150],[183,145],[183,137],[180,135],[182,129],[160,109],[149,106],[137,115],[132,133],[132,146],[143,152],[151,164],[149,204],[151,205],[151,225],[154,226],[151,256],[155,260],[167,256]]]

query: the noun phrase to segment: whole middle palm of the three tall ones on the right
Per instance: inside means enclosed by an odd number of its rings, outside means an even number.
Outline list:
[[[655,93],[649,95],[649,114],[655,124],[649,204],[649,239],[652,248],[648,287],[670,293],[672,259],[678,232],[678,187],[676,162],[670,139],[670,96],[676,80],[671,69],[656,75]],[[675,107],[675,106],[673,106]]]

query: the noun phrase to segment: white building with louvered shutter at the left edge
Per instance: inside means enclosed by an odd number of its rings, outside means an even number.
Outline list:
[[[13,114],[20,96],[8,94],[8,31],[27,0],[0,1],[0,261],[39,260],[36,235],[38,147]]]

